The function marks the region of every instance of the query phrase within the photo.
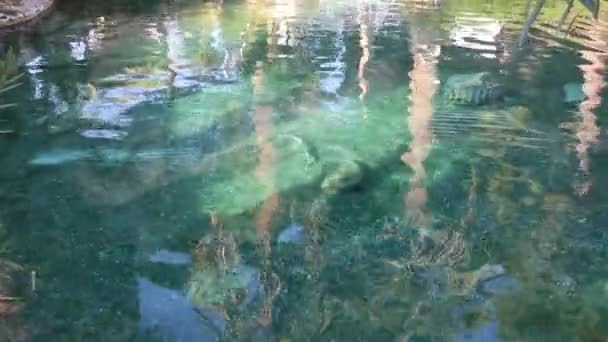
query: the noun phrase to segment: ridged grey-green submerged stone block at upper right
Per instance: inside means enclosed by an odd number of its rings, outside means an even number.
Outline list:
[[[446,82],[445,94],[455,103],[478,106],[500,100],[504,87],[487,72],[453,75]]]

